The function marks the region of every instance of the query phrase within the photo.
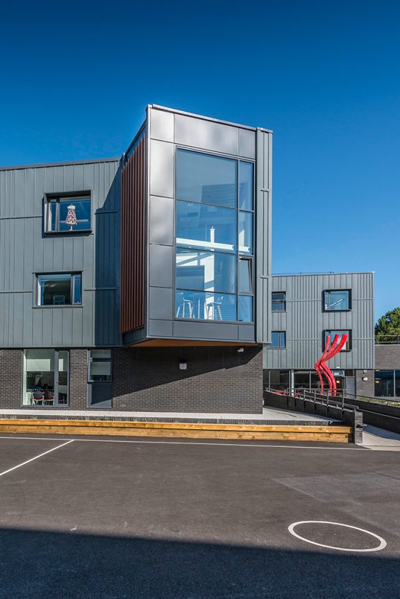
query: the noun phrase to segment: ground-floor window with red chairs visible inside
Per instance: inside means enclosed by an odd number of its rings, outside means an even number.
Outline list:
[[[69,352],[26,349],[23,353],[23,405],[68,405]]]

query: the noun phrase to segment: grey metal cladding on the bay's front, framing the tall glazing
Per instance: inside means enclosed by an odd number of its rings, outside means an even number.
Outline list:
[[[221,324],[216,322],[177,321],[174,320],[173,297],[171,305],[163,305],[163,294],[166,288],[173,288],[175,268],[175,151],[177,146],[188,146],[199,151],[212,151],[221,155],[234,155],[244,159],[255,159],[255,143],[258,135],[262,138],[262,167],[258,183],[260,183],[260,202],[262,216],[258,220],[258,246],[261,248],[262,260],[259,263],[260,290],[262,297],[258,301],[256,319],[260,322],[260,340],[268,340],[268,315],[264,307],[268,303],[268,276],[271,274],[271,251],[269,237],[271,218],[271,193],[266,186],[271,181],[271,133],[234,124],[218,123],[215,120],[179,114],[162,107],[150,106],[147,111],[150,131],[149,141],[149,219],[147,255],[149,255],[147,277],[147,318],[149,320],[171,320],[173,327],[162,323],[156,327],[149,322],[151,331],[158,331],[156,336],[175,337],[177,339],[253,341],[255,342],[255,326],[253,324],[238,326],[238,324]],[[175,123],[174,135],[171,133],[171,123]],[[258,207],[259,199],[255,199]],[[258,263],[258,260],[256,261]],[[262,277],[266,277],[263,279]],[[155,291],[154,288],[164,288]],[[168,303],[170,297],[167,296]],[[162,315],[162,316],[161,316]],[[171,333],[172,330],[172,333]]]

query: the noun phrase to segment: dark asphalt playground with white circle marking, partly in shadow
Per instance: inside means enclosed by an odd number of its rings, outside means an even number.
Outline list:
[[[399,598],[400,454],[0,437],[1,598]]]

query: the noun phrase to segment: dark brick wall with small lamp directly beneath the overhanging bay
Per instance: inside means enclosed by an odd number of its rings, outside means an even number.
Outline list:
[[[262,413],[262,348],[116,348],[113,381],[117,410]]]

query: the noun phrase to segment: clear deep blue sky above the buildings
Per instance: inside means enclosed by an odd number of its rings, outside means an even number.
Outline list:
[[[121,155],[147,103],[274,131],[273,271],[375,270],[400,305],[398,1],[22,2],[0,165]]]

